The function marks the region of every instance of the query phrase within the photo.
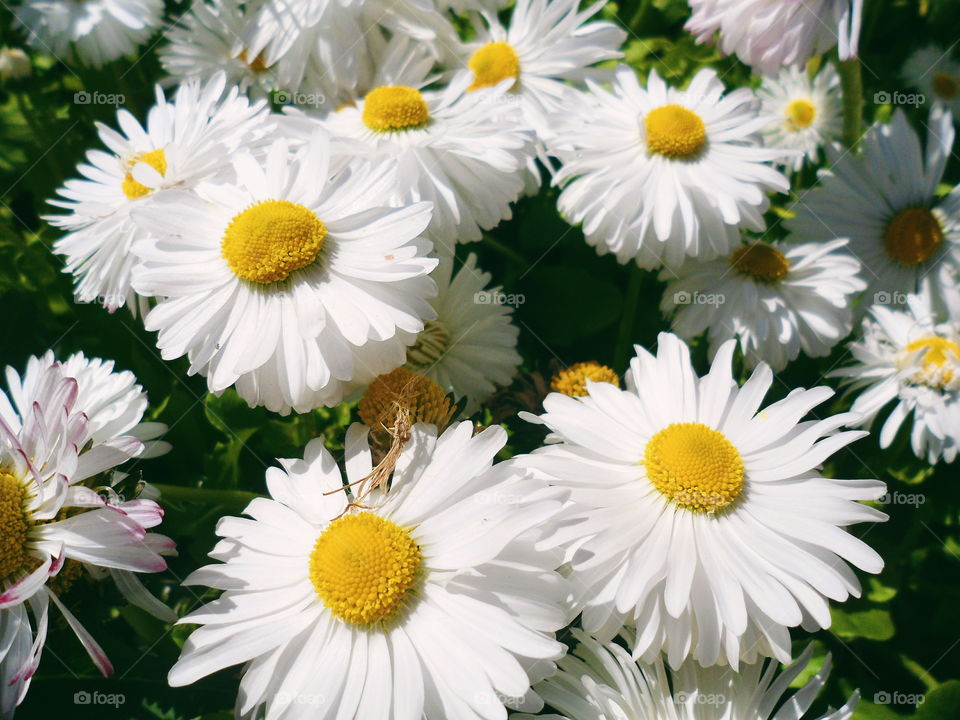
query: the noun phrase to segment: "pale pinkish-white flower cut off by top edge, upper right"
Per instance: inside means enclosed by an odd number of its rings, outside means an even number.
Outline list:
[[[720,32],[720,49],[765,75],[803,65],[837,46],[841,60],[857,55],[863,0],[689,0],[684,26],[698,42]]]

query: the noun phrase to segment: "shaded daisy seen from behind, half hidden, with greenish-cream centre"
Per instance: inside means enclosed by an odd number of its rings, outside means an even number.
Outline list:
[[[453,274],[453,259],[442,257],[434,270],[435,320],[424,326],[407,350],[406,367],[426,375],[454,396],[466,397],[469,415],[498,385],[509,385],[521,362],[513,308],[500,302],[499,287],[488,288],[490,273],[471,253]]]

